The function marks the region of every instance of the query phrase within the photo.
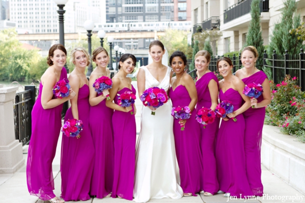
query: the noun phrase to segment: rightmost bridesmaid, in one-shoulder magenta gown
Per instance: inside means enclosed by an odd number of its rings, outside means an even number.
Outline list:
[[[250,83],[261,84],[264,92],[258,99],[251,99],[251,106],[243,112],[245,117],[245,155],[246,172],[250,187],[255,196],[263,195],[261,181],[261,145],[262,131],[265,119],[265,107],[271,103],[270,84],[266,74],[255,67],[258,52],[255,47],[245,47],[241,52],[243,68],[236,72],[236,76],[246,85]],[[253,125],[255,123],[255,125]]]

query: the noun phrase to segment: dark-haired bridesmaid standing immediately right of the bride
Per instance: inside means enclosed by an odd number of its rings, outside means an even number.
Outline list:
[[[180,51],[175,51],[169,58],[176,76],[171,79],[169,97],[173,107],[186,107],[191,110],[191,117],[187,120],[174,120],[174,138],[177,161],[180,170],[181,188],[184,196],[197,196],[202,190],[202,154],[200,150],[200,124],[196,121],[197,91],[190,75],[185,72],[187,57]],[[181,131],[180,125],[185,126]]]

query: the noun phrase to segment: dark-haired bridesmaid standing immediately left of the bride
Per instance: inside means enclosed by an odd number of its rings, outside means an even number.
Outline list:
[[[111,196],[132,200],[134,174],[135,174],[135,148],[136,148],[136,108],[120,107],[117,105],[118,94],[132,91],[136,94],[131,84],[131,78],[127,74],[134,71],[136,57],[132,54],[124,54],[119,59],[119,71],[112,78],[110,100],[106,106],[114,109],[112,116],[113,142],[114,142],[114,180]],[[112,101],[114,100],[114,103]],[[134,114],[131,115],[130,111]]]

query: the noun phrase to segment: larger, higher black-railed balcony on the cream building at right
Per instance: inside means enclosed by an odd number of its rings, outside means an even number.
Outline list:
[[[224,23],[250,13],[252,0],[241,0],[224,10]],[[269,0],[260,2],[260,12],[269,12]]]

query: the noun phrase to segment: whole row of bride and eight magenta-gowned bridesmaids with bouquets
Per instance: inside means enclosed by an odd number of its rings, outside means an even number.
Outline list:
[[[217,61],[223,79],[208,69],[210,54],[195,55],[196,82],[187,74],[187,57],[169,59],[161,41],[149,45],[151,63],[137,74],[137,92],[128,74],[136,57],[126,53],[110,79],[111,58],[103,47],[92,57],[71,51],[74,70],[67,78],[67,51],[49,49],[32,111],[26,165],[31,195],[52,203],[96,198],[149,199],[196,196],[262,196],[261,141],[270,85],[256,68],[258,52],[245,47],[242,69],[232,73],[230,58]],[[166,61],[166,64],[162,63]],[[86,67],[96,68],[87,79]],[[170,64],[168,66],[167,64]],[[137,110],[135,99],[143,103]],[[63,104],[70,100],[64,124]],[[141,114],[136,141],[135,114]],[[63,132],[61,194],[54,190],[52,161]],[[176,164],[177,163],[177,164]]]

